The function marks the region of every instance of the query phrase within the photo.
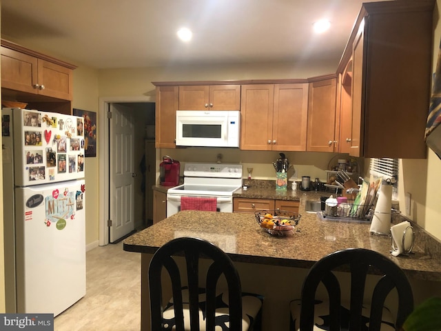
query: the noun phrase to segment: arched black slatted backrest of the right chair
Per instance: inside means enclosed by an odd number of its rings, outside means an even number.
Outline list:
[[[329,330],[340,330],[341,290],[336,275],[331,271],[342,265],[349,265],[351,273],[349,329],[364,330],[362,325],[362,304],[365,299],[365,283],[369,268],[380,275],[372,291],[369,302],[371,313],[369,331],[380,330],[383,305],[389,292],[396,288],[398,292],[397,330],[413,310],[413,293],[409,281],[391,259],[378,252],[363,248],[340,250],[323,257],[309,270],[302,286],[300,308],[300,330],[313,330],[314,299],[319,283],[323,283],[329,294]],[[345,269],[340,268],[340,271]]]

